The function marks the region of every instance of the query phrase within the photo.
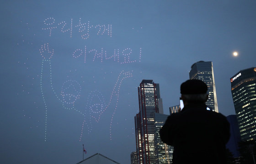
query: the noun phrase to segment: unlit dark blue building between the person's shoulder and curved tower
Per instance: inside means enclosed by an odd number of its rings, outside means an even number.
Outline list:
[[[241,141],[236,115],[227,116],[227,120],[230,124],[230,138],[229,142],[226,144],[226,148],[229,149],[236,158],[240,156],[238,143]]]

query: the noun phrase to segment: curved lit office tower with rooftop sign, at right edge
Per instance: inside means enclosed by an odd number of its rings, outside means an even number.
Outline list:
[[[256,67],[241,70],[230,82],[241,139],[256,139]]]

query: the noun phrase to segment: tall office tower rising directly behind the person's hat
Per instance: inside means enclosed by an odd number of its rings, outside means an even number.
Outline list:
[[[209,97],[206,105],[213,111],[219,112],[213,75],[213,62],[199,61],[194,63],[191,66],[189,78],[202,80],[207,84]]]

